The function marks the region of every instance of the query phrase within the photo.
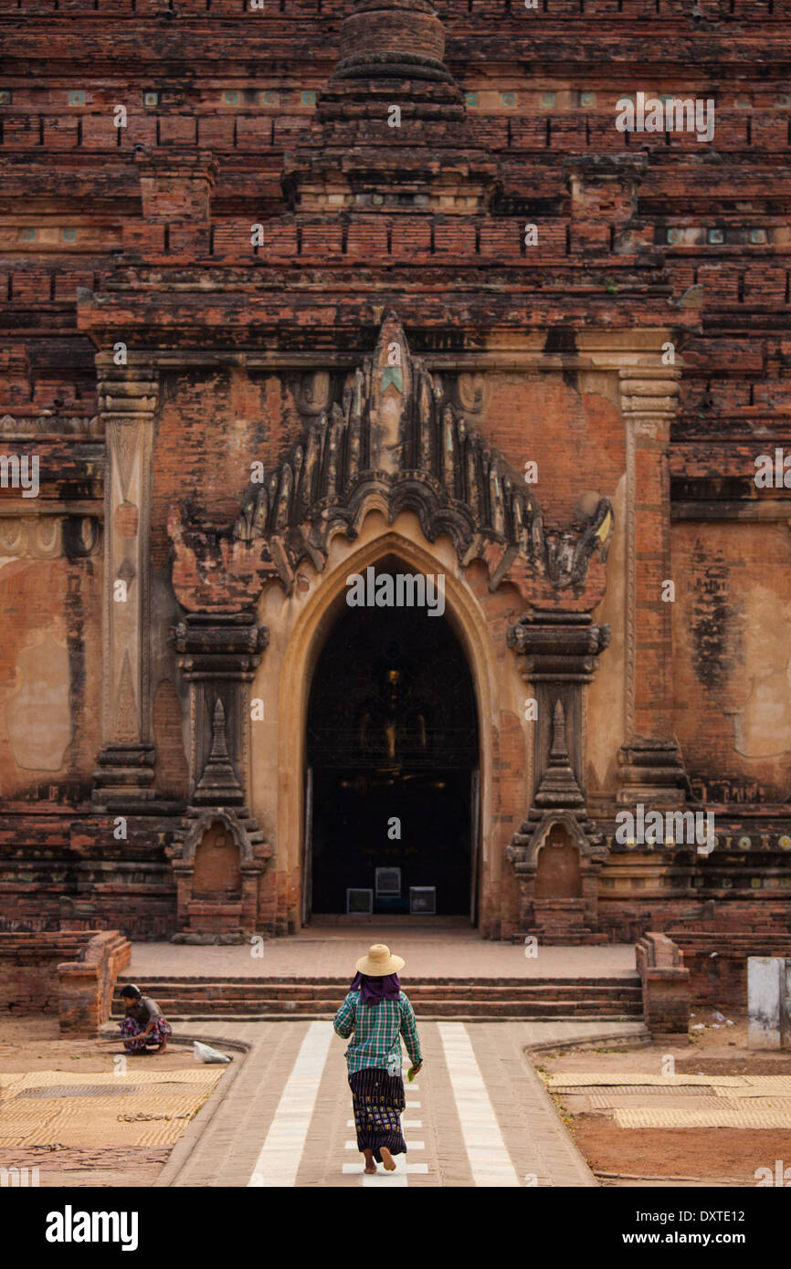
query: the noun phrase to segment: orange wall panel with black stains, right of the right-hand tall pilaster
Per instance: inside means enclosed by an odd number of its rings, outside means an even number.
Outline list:
[[[759,443],[753,450],[767,452]],[[741,471],[755,472],[747,457]],[[791,788],[788,529],[674,524],[672,557],[674,720],[689,777],[730,780],[749,801],[783,802]],[[707,796],[719,801],[714,789]]]

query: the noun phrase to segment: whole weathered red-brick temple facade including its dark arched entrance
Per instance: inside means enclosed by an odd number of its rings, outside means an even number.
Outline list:
[[[11,928],[788,930],[791,0],[0,34]]]

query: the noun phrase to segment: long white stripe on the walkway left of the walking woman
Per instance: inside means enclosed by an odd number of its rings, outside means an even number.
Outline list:
[[[248,1185],[293,1185],[333,1038],[330,1022],[307,1028]]]

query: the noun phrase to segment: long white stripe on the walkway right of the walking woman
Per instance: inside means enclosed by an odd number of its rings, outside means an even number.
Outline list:
[[[451,1088],[476,1185],[519,1185],[503,1133],[489,1100],[467,1028],[463,1023],[438,1023]]]

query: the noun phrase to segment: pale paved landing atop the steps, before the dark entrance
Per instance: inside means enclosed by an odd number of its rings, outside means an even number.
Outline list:
[[[354,977],[354,962],[372,943],[386,943],[402,956],[404,989],[418,978],[595,978],[634,977],[632,943],[604,947],[538,947],[527,957],[519,943],[493,943],[466,928],[414,929],[364,925],[357,929],[309,926],[301,934],[272,939],[263,957],[248,944],[192,947],[133,943],[127,971],[132,981],[147,977]]]

